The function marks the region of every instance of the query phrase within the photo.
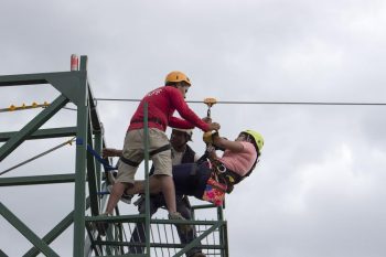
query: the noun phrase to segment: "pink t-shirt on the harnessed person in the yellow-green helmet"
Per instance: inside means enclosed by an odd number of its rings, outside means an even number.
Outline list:
[[[233,152],[225,150],[222,158],[218,160],[229,170],[244,176],[251,169],[256,161],[256,150],[253,143],[240,141],[244,149],[242,152]]]

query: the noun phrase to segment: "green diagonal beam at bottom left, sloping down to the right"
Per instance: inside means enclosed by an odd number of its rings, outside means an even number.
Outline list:
[[[58,255],[51,249],[36,234],[34,234],[22,221],[20,221],[13,213],[0,202],[0,214],[14,226],[28,240],[36,246],[45,256],[57,256]]]

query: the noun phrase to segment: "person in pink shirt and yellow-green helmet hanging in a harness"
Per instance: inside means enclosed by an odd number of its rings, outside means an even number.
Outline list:
[[[225,193],[230,193],[236,184],[248,176],[255,169],[264,138],[254,130],[242,131],[235,141],[212,135],[204,141],[224,149],[222,157],[216,157],[210,150],[210,161],[185,163],[173,167],[175,193],[192,195],[222,205]],[[149,180],[150,193],[161,192],[153,178]],[[136,181],[135,186],[128,189],[126,194],[143,193],[143,181]]]

